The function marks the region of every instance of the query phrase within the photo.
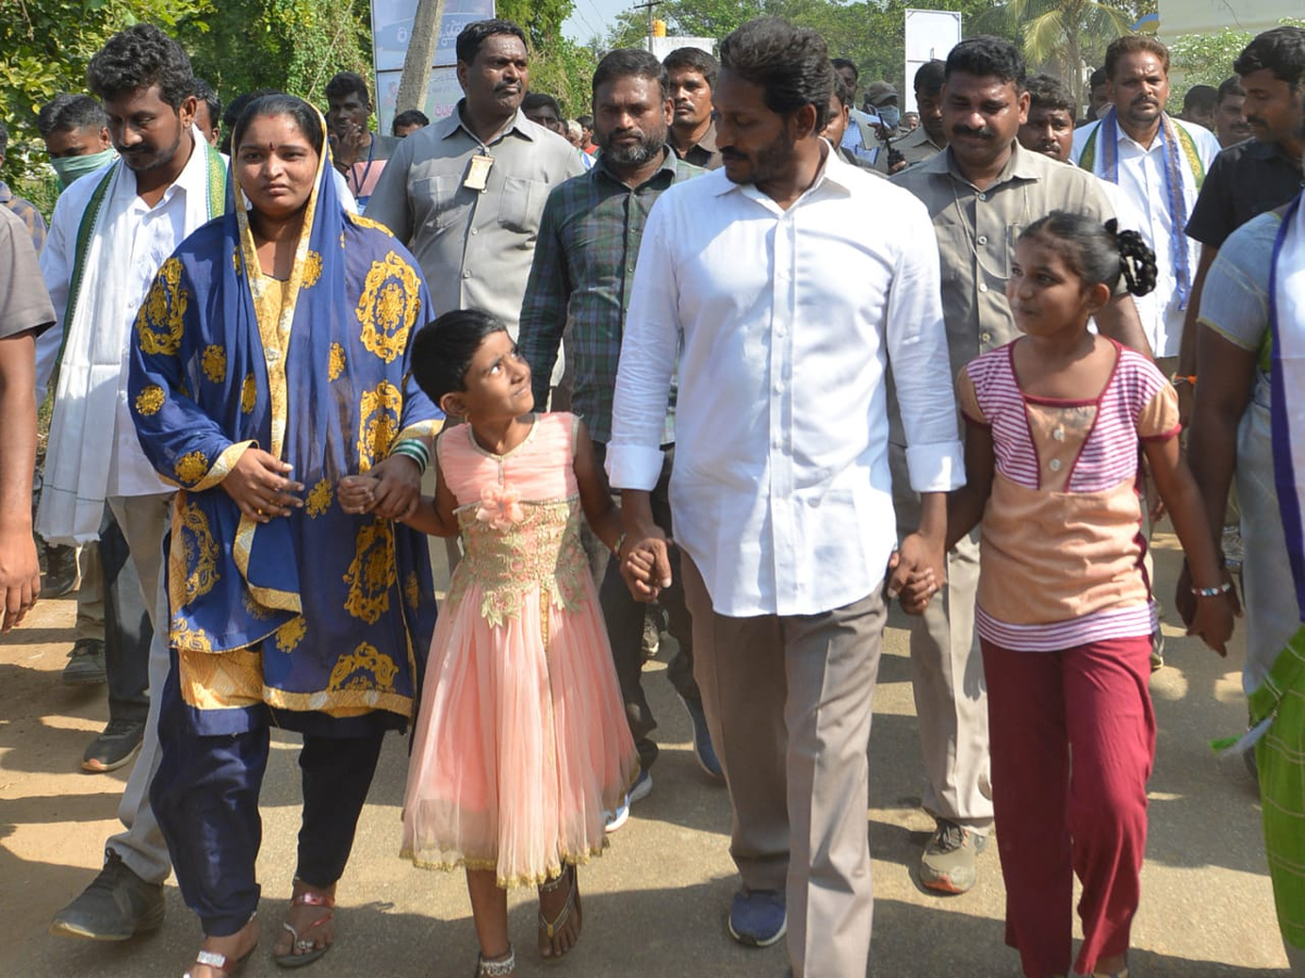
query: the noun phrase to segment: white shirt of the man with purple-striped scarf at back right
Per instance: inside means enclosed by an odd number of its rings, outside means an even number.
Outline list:
[[[1191,125],[1180,119],[1172,120],[1174,126],[1184,129],[1197,147],[1201,160],[1201,177],[1219,155],[1219,141],[1201,125]],[[1090,123],[1074,130],[1073,160],[1078,164],[1090,136],[1100,128],[1100,121]],[[1186,305],[1178,299],[1178,262],[1173,253],[1173,218],[1169,213],[1168,179],[1164,172],[1164,141],[1160,133],[1143,146],[1117,126],[1120,193],[1114,198],[1121,228],[1133,228],[1142,233],[1155,252],[1156,282],[1155,291],[1144,296],[1134,296],[1142,327],[1156,356],[1177,356],[1182,342],[1182,319]],[[1094,172],[1104,173],[1104,153],[1098,137],[1094,149]],[[1197,203],[1201,185],[1191,172],[1188,156],[1178,149],[1178,172],[1182,175],[1182,197],[1186,201],[1188,215]],[[1108,180],[1105,183],[1109,183]],[[1178,240],[1188,249],[1188,276],[1195,279],[1197,263],[1201,261],[1201,244],[1186,236],[1186,228],[1178,228]],[[1189,296],[1190,300],[1190,296]]]

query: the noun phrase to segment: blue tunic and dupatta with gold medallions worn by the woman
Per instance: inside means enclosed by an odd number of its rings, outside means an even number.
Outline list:
[[[228,188],[226,216],[161,267],[132,336],[137,434],[181,489],[167,563],[181,695],[228,715],[408,717],[435,625],[425,539],[343,512],[335,486],[438,430],[408,376],[431,297],[388,231],[345,213],[325,147],[281,288],[258,267],[235,166]],[[258,524],[221,488],[252,445],[305,485],[291,516]]]

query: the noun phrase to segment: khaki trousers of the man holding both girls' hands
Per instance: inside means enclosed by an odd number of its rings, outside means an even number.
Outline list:
[[[883,600],[729,618],[713,609],[686,553],[680,566],[743,885],[786,892],[795,978],[865,974],[874,909],[867,745]]]

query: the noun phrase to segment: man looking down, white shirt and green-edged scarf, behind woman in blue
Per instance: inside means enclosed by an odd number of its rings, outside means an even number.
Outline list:
[[[129,336],[158,267],[223,211],[226,160],[193,128],[194,80],[185,52],[157,27],[136,25],[110,38],[86,76],[121,159],[65,190],[42,253],[65,339],[37,529],[55,542],[93,540],[107,503],[153,621],[174,489],[155,475],[136,438],[127,402]],[[168,634],[167,621],[153,625]],[[158,738],[157,703],[146,690],[163,687],[167,643],[155,639],[146,659],[107,664],[111,689],[115,668],[138,687],[119,700],[117,715],[111,707],[102,737],[110,762],[141,750],[119,808],[127,832],[108,841],[95,882],[55,917],[56,934],[125,940],[163,921],[170,862],[149,807]]]

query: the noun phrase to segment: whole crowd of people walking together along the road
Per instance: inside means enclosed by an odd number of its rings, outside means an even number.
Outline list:
[[[395,852],[466,872],[475,973],[514,973],[510,887],[565,957],[577,867],[652,790],[652,621],[731,803],[729,934],[860,975],[899,601],[920,883],[966,892],[1000,833],[1023,973],[1126,977],[1172,599],[1220,655],[1245,604],[1233,748],[1305,974],[1305,30],[1257,37],[1181,116],[1167,48],[1122,37],[1086,121],[992,37],[923,65],[906,116],[778,18],[719,60],[616,50],[570,134],[517,25],[470,23],[457,63],[453,111],[384,136],[358,74],[325,113],[223,107],[137,25],[40,110],[48,228],[0,184],[0,623],[42,591],[34,532],[64,548],[63,679],[108,687],[82,767],[134,760],[52,931],[157,930],[175,872],[188,974],[238,973],[277,726],[303,737],[303,814],[271,956],[316,961],[382,738],[411,726]],[[438,609],[427,536],[454,567]]]

